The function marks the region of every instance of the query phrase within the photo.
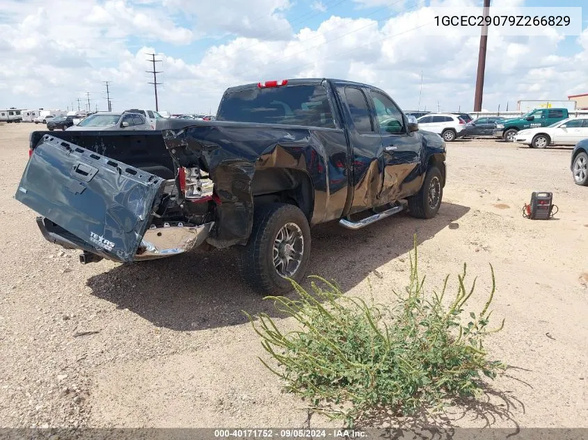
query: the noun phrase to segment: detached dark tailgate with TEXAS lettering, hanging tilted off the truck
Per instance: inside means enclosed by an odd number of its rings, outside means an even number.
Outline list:
[[[159,203],[164,180],[71,142],[44,136],[15,198],[88,245],[132,261]]]

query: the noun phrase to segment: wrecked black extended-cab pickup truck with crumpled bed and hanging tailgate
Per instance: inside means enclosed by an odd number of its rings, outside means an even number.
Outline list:
[[[404,209],[436,215],[445,142],[361,83],[294,79],[225,91],[216,121],[155,131],[34,131],[15,198],[82,263],[239,247],[241,275],[292,288],[310,227],[359,229]]]

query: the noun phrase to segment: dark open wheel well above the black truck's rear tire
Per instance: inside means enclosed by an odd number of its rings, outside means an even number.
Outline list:
[[[308,174],[292,168],[265,168],[255,171],[251,186],[255,205],[289,203],[298,206],[308,221],[315,207],[315,192]]]

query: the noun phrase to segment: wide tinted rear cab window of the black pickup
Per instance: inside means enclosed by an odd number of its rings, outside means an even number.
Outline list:
[[[336,128],[323,85],[251,87],[230,91],[221,101],[216,120]]]

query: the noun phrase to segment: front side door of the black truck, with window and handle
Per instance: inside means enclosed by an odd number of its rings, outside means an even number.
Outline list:
[[[374,113],[383,146],[383,181],[380,204],[395,202],[404,179],[420,162],[421,140],[408,133],[402,112],[390,97],[371,90]]]

